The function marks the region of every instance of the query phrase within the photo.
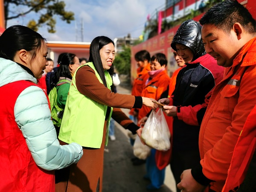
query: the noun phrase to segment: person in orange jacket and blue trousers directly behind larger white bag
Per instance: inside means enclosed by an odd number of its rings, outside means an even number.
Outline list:
[[[170,77],[166,72],[167,58],[163,53],[157,53],[151,57],[150,68],[147,74],[142,76],[143,91],[142,96],[150,96],[156,100],[161,98],[164,91],[168,89]],[[138,120],[143,119],[151,109],[142,107],[139,110]],[[147,117],[146,117],[147,118]],[[151,149],[151,154],[146,159],[146,179],[149,179],[151,183],[147,186],[148,190],[159,189],[164,182],[165,169],[158,169],[155,161],[156,149]]]

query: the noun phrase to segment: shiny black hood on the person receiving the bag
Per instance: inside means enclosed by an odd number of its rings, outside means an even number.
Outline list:
[[[201,37],[201,28],[201,25],[192,19],[184,21],[172,40],[172,49],[177,51],[176,44],[186,45],[194,53],[193,61],[205,55],[206,52]]]

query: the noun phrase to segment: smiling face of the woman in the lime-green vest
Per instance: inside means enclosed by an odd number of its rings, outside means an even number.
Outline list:
[[[102,60],[104,70],[109,70],[113,61],[115,60],[115,47],[112,43],[103,46],[99,50],[99,55]]]

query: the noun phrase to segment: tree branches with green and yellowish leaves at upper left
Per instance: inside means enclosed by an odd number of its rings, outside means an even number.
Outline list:
[[[15,10],[18,10],[18,6],[26,7],[26,11],[22,13],[15,12]],[[38,31],[38,28],[45,24],[48,26],[49,33],[55,33],[56,20],[53,16],[58,15],[61,20],[67,23],[75,19],[73,12],[65,11],[65,6],[64,1],[59,0],[4,0],[5,25],[7,26],[8,20],[24,16],[30,12],[36,12],[40,15],[38,20],[30,20],[27,26],[34,31]]]

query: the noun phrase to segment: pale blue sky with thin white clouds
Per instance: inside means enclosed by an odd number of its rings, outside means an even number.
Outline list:
[[[93,38],[105,35],[111,38],[139,37],[144,29],[147,15],[154,14],[156,9],[164,7],[165,0],[64,0],[66,10],[75,13],[76,22],[70,24],[58,19],[56,33],[49,34],[47,26],[39,29],[47,41],[81,41],[81,20],[83,20],[83,41],[91,42]],[[15,12],[22,11],[19,7]],[[16,20],[10,20],[8,26],[25,25],[31,18],[37,19],[35,13],[30,13]],[[77,30],[76,30],[77,26]],[[76,32],[77,31],[77,32]]]

